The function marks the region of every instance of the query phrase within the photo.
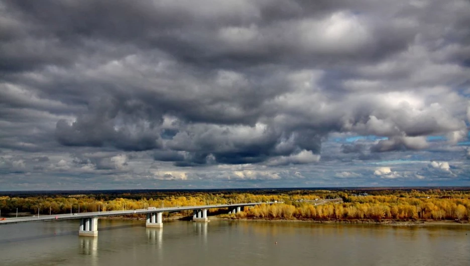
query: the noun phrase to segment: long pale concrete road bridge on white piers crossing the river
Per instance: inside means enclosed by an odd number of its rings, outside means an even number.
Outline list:
[[[97,212],[83,212],[83,213],[67,213],[57,215],[37,215],[29,217],[15,217],[0,220],[0,225],[20,223],[20,222],[35,222],[35,221],[57,221],[57,220],[80,220],[80,227],[78,235],[81,236],[98,236],[98,217],[105,216],[120,216],[132,214],[147,214],[146,227],[163,227],[163,213],[164,212],[181,212],[192,210],[193,221],[208,222],[207,210],[214,208],[228,208],[230,213],[238,213],[242,211],[243,207],[255,206],[261,204],[274,204],[276,202],[251,202],[251,203],[236,203],[236,204],[218,204],[218,205],[199,205],[199,206],[182,206],[182,207],[165,207],[156,208],[149,207],[147,209],[138,210],[119,210],[119,211],[97,211]]]

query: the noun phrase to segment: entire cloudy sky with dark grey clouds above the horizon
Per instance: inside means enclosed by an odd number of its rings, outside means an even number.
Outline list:
[[[0,191],[470,186],[468,0],[0,0]]]

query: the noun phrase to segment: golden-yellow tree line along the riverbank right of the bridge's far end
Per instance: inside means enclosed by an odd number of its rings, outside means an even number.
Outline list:
[[[239,218],[313,220],[469,220],[469,199],[399,199],[398,201],[345,202],[314,205],[272,204],[250,207]]]

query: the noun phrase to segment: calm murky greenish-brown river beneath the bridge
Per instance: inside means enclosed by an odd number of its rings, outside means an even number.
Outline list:
[[[0,226],[0,265],[470,265],[470,227],[213,220]]]

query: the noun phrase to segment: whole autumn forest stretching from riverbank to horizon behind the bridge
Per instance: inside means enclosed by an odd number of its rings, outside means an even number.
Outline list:
[[[315,200],[341,199],[317,205]],[[458,220],[470,219],[469,190],[262,190],[40,194],[0,196],[2,216],[62,214],[148,207],[278,201],[245,208],[237,219]],[[213,214],[225,210],[212,209]],[[25,214],[26,213],[26,214]],[[191,215],[183,212],[182,216]],[[168,215],[167,215],[168,216]]]

